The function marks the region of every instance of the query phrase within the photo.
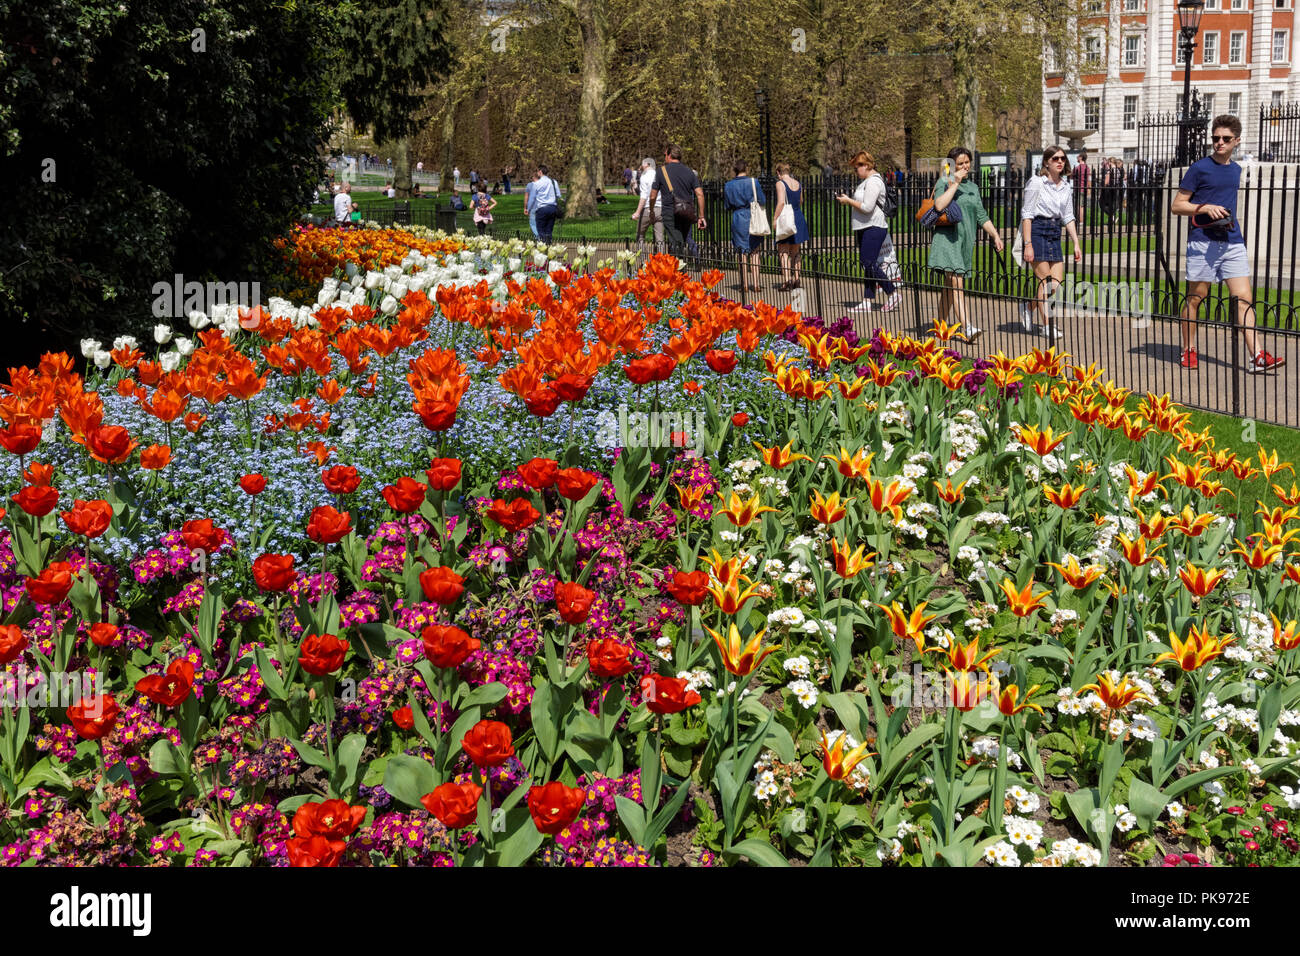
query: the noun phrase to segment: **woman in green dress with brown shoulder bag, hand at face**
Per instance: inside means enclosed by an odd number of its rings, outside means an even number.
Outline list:
[[[948,153],[944,174],[935,183],[935,209],[942,212],[949,203],[957,203],[962,211],[962,221],[935,229],[935,238],[930,243],[930,268],[944,273],[939,317],[946,323],[952,316],[966,330],[966,339],[974,342],[983,332],[966,317],[963,290],[975,259],[975,233],[980,229],[988,233],[998,252],[1002,251],[1002,237],[988,219],[984,202],[979,198],[979,186],[967,179],[970,173],[971,151],[958,146]]]

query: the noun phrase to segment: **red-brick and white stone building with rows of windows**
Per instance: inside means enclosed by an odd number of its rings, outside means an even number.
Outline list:
[[[1261,107],[1300,100],[1296,1],[1205,0],[1192,87],[1210,116],[1240,117],[1239,155],[1270,150],[1268,127],[1260,143]],[[1095,130],[1084,139],[1089,152],[1131,161],[1141,117],[1182,109],[1176,3],[1083,0],[1083,9],[1071,23],[1078,53],[1061,56],[1052,44],[1043,53],[1043,144],[1058,130]]]

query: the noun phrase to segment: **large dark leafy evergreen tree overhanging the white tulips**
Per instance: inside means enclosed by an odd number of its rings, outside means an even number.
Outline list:
[[[147,328],[174,273],[263,277],[324,173],[333,17],[328,0],[0,0],[13,349]]]

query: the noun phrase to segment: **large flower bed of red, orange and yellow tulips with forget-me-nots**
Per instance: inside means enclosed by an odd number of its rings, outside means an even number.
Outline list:
[[[1290,464],[1054,350],[367,232],[12,375],[8,865],[1295,860],[1300,489],[1235,498]]]

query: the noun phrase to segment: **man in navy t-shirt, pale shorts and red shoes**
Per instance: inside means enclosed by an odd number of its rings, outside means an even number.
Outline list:
[[[1238,321],[1245,334],[1249,355],[1245,371],[1268,372],[1286,364],[1286,359],[1264,351],[1254,330],[1251,258],[1236,219],[1242,166],[1232,161],[1232,150],[1242,140],[1242,121],[1235,116],[1217,116],[1212,130],[1210,155],[1187,168],[1170,207],[1175,216],[1192,217],[1187,233],[1187,303],[1183,306],[1180,364],[1196,368],[1196,315],[1209,294],[1210,282],[1226,282],[1228,294],[1236,298]]]

